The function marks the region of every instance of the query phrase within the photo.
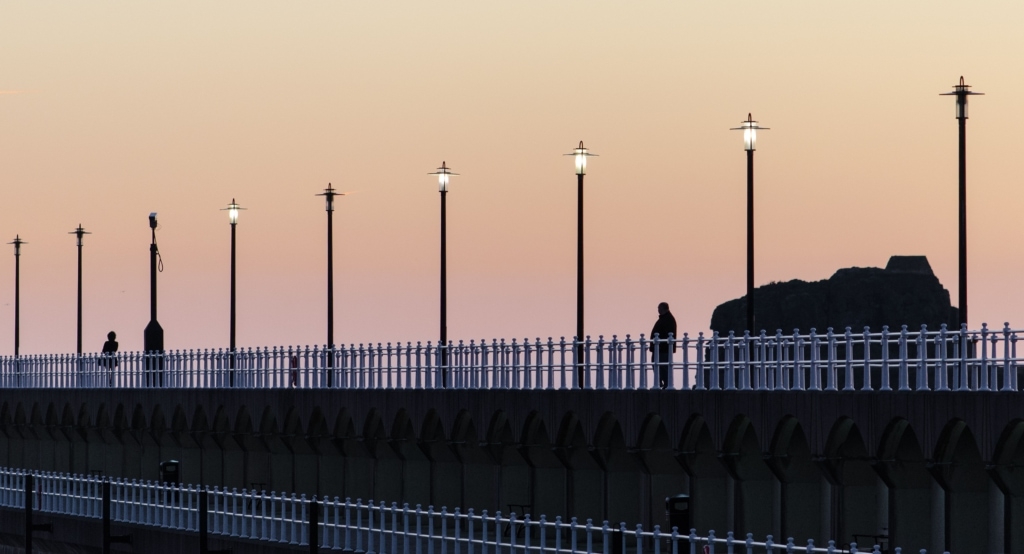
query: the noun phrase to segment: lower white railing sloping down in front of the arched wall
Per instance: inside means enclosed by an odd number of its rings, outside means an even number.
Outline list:
[[[835,541],[817,547],[813,540],[796,545],[791,538],[775,543],[771,536],[755,541],[751,534],[737,539],[710,531],[699,537],[695,529],[680,534],[673,527],[663,532],[641,525],[613,527],[588,519],[548,520],[542,515],[472,509],[449,511],[408,504],[398,507],[373,501],[307,500],[305,495],[217,487],[200,489],[135,479],[104,479],[96,476],[35,472],[0,468],[0,507],[25,509],[26,476],[33,476],[32,508],[35,511],[71,517],[99,519],[102,516],[102,486],[110,482],[111,521],[185,532],[208,532],[238,540],[264,541],[291,546],[309,546],[314,540],[321,549],[380,554],[699,554],[725,552],[755,553],[851,553],[880,554],[878,545],[867,549]],[[206,506],[201,501],[206,500]],[[315,512],[315,516],[313,515]],[[206,513],[207,520],[201,521]],[[899,548],[894,549],[897,554]],[[924,550],[921,551],[923,554]],[[947,553],[948,554],[948,553]]]

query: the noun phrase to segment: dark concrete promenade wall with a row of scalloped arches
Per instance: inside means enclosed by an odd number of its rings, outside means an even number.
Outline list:
[[[167,459],[184,482],[663,528],[688,493],[701,534],[1024,552],[1020,393],[0,391],[0,465]]]

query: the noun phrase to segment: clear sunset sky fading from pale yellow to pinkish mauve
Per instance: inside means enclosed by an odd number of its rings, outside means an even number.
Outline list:
[[[971,326],[1024,327],[1024,2],[4,2],[0,239],[22,255],[22,352],[139,349],[146,216],[159,213],[170,349],[326,339],[328,182],[336,341],[571,336],[580,140],[587,332],[680,331],[744,293],[746,114],[757,284],[927,255],[956,297],[965,76]],[[0,354],[14,256],[0,255]]]

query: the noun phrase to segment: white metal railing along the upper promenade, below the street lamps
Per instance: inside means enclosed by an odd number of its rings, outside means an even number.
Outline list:
[[[1007,324],[584,341],[495,339],[0,357],[0,388],[1019,391]]]

